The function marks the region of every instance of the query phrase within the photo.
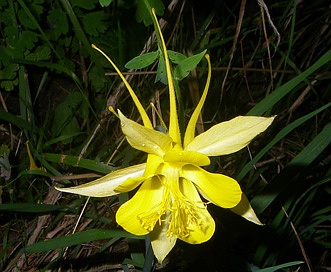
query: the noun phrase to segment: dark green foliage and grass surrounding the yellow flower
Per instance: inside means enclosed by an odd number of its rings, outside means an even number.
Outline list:
[[[186,1],[172,13],[169,1],[156,0],[0,0],[1,271],[329,269],[329,3],[265,2],[270,18],[257,1]],[[236,178],[265,226],[208,206],[217,223],[213,240],[178,243],[164,266],[155,264],[148,237],[116,226],[114,214],[129,195],[86,199],[53,190],[144,160],[107,108],[139,115],[118,78],[105,76],[111,68],[91,43],[131,69],[127,79],[147,112],[167,121],[164,68],[148,41],[146,3],[166,19],[181,122],[206,80],[204,52],[213,72],[199,132],[238,115],[277,115],[249,149],[216,158],[208,169]]]

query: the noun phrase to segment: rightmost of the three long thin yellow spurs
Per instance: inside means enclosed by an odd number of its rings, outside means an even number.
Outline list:
[[[203,104],[205,103],[206,97],[207,97],[207,93],[208,93],[208,89],[209,89],[209,84],[210,84],[210,78],[211,78],[211,64],[210,64],[210,58],[209,55],[207,54],[206,56],[207,62],[208,62],[208,76],[207,76],[207,82],[206,82],[206,86],[205,89],[203,90],[201,99],[198,103],[198,105],[196,106],[190,121],[186,127],[186,131],[185,131],[185,136],[184,136],[184,148],[194,139],[194,135],[195,135],[195,127],[200,115],[200,112],[202,110]]]

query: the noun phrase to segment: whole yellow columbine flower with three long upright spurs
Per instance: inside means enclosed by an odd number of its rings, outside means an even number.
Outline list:
[[[87,184],[57,189],[85,196],[106,197],[129,192],[140,186],[136,194],[120,206],[116,221],[135,235],[149,234],[154,254],[161,263],[174,247],[177,238],[190,244],[200,244],[212,237],[215,222],[207,210],[207,202],[200,195],[208,202],[230,208],[247,220],[261,224],[234,179],[209,173],[202,167],[209,165],[209,156],[230,154],[247,146],[274,118],[239,116],[195,137],[196,123],[211,77],[210,60],[206,55],[209,68],[207,83],[182,142],[169,58],[158,25],[157,28],[169,86],[168,132],[164,134],[153,129],[147,113],[121,72],[100,49],[93,46],[116,69],[142,117],[143,125],[140,125],[118,111],[127,141],[133,148],[148,154],[147,162],[111,172]]]

